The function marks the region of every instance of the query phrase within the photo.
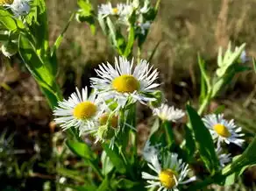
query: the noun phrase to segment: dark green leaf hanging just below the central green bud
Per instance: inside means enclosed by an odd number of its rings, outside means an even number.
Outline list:
[[[112,149],[110,149],[110,145],[103,144],[103,149],[107,153],[112,164],[116,167],[117,172],[125,173],[126,170],[125,170],[124,160],[122,159],[121,155],[119,154],[117,146],[114,146],[114,148],[112,150]]]

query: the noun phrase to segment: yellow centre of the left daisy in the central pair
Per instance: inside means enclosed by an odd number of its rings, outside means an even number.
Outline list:
[[[73,110],[73,115],[78,119],[88,119],[90,117],[93,117],[96,114],[96,111],[96,104],[86,101],[83,103],[79,103],[75,106],[75,109]]]

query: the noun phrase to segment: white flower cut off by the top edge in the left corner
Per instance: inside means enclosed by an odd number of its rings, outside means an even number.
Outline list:
[[[10,1],[8,2],[8,4],[4,4],[4,6],[7,7],[7,9],[11,9],[14,16],[18,18],[21,16],[25,16],[29,13],[29,11],[31,10],[31,6],[29,3],[31,1],[32,0],[13,0],[12,3]]]

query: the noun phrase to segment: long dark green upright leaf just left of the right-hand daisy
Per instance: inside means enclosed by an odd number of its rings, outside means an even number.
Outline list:
[[[201,159],[210,173],[214,174],[219,169],[219,161],[214,149],[214,143],[210,136],[210,131],[204,126],[201,117],[198,116],[196,110],[187,105],[189,121],[195,134],[196,146],[199,150]]]

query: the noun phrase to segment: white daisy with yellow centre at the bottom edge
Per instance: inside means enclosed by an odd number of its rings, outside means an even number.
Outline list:
[[[188,164],[178,159],[176,153],[167,153],[167,158],[160,164],[157,155],[151,157],[151,161],[147,164],[156,175],[142,172],[142,178],[146,179],[149,184],[146,187],[159,187],[158,191],[178,191],[178,185],[186,184],[196,180],[192,177],[188,180],[184,179],[188,175]]]

